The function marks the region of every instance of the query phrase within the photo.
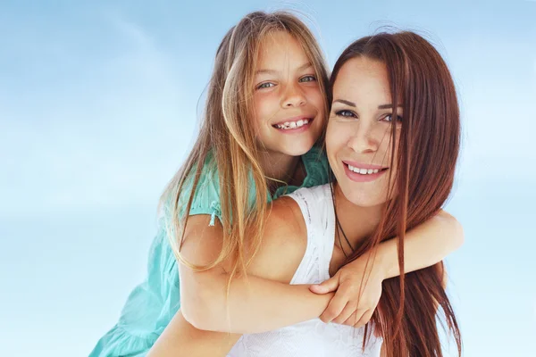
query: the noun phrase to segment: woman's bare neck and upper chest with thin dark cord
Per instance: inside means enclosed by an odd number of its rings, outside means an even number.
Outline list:
[[[344,249],[345,252],[351,252],[350,247],[344,239],[342,230],[344,230],[344,235],[346,235],[352,247],[355,248],[364,239],[370,237],[378,227],[384,205],[379,204],[372,207],[362,207],[351,203],[342,193],[337,183],[333,184],[333,194],[335,196],[335,212],[337,213],[337,219],[340,224],[340,227],[336,229],[339,230],[339,237],[341,237],[341,243],[339,244],[339,240],[336,239],[335,245],[342,245],[339,248]]]

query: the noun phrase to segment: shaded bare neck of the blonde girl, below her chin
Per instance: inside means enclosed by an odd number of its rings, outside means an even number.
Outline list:
[[[264,176],[267,179],[271,193],[275,192],[277,187],[285,184],[301,185],[305,175],[303,175],[303,168],[300,164],[300,156],[290,156],[270,151],[261,151],[259,156],[259,162],[264,170]]]

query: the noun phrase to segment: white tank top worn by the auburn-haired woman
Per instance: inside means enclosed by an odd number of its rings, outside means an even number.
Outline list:
[[[335,243],[335,213],[329,185],[301,188],[289,195],[306,220],[307,247],[290,284],[318,284],[330,278]],[[364,328],[320,319],[270,332],[240,337],[228,357],[378,357],[381,337],[369,333],[363,350]]]

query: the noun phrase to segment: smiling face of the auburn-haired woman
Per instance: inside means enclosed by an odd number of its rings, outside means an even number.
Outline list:
[[[326,150],[342,193],[358,206],[375,206],[391,198],[387,197],[388,187],[397,172],[396,160],[395,166],[390,166],[391,120],[397,120],[398,144],[403,115],[401,107],[398,118],[393,118],[392,112],[382,62],[358,57],[340,68],[333,86]]]

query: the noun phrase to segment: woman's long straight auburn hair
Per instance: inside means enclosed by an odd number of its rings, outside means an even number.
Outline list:
[[[456,89],[447,64],[438,51],[414,32],[380,33],[364,37],[340,55],[331,74],[331,88],[340,68],[356,57],[383,62],[386,66],[393,115],[402,105],[404,119],[399,142],[393,120],[391,150],[398,145],[398,171],[379,227],[370,239],[348,256],[347,262],[373,250],[381,241],[399,237],[400,277],[383,282],[372,322],[383,336],[389,357],[442,356],[436,318],[442,309],[448,329],[461,355],[461,335],[443,285],[440,262],[404,274],[404,237],[440,211],[454,183],[460,146],[460,117]],[[331,102],[331,101],[330,101]],[[368,328],[368,327],[367,327]]]

